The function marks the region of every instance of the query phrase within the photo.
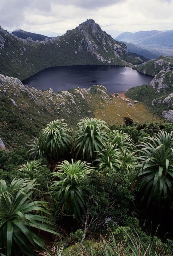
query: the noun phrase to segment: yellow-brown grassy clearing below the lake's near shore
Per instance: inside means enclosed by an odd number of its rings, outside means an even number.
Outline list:
[[[113,97],[105,104],[100,102],[95,108],[95,117],[106,120],[110,123],[123,124],[123,117],[130,117],[133,122],[157,122],[163,119],[155,117],[145,106],[141,103],[128,105],[129,102],[123,100],[121,97]]]

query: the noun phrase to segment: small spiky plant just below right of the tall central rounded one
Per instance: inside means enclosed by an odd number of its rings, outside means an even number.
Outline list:
[[[122,153],[119,148],[115,149],[115,145],[106,145],[105,149],[98,154],[95,162],[99,170],[104,170],[105,168],[117,169],[120,167]]]

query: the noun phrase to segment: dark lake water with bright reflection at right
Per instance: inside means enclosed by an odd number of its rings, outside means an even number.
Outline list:
[[[125,92],[133,86],[149,84],[153,77],[132,68],[117,66],[65,66],[42,70],[23,80],[23,84],[39,90],[66,91],[74,87],[89,88],[94,84],[106,87],[109,93]]]

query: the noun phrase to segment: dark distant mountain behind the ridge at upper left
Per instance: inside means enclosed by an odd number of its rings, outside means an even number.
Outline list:
[[[44,36],[44,35],[40,35],[40,34],[36,34],[36,33],[31,33],[31,32],[27,32],[21,29],[17,29],[15,31],[13,31],[11,34],[13,34],[16,37],[19,37],[21,39],[27,39],[27,37],[30,37],[32,40],[36,41],[45,41],[46,38],[48,39],[52,39],[53,37],[48,37],[48,36]]]

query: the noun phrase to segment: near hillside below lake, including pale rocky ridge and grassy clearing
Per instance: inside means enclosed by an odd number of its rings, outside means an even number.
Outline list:
[[[157,120],[142,104],[112,97],[102,85],[53,92],[24,86],[17,78],[0,75],[0,138],[7,147],[21,146],[54,119],[65,119],[75,126],[83,117],[96,116],[109,123],[123,124],[123,117],[134,122]]]

